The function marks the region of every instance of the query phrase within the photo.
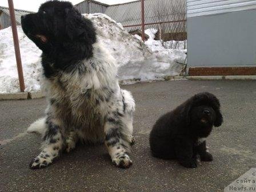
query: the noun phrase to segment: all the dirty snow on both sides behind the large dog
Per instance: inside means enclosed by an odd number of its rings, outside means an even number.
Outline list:
[[[118,77],[124,83],[154,81],[166,75],[179,75],[186,50],[165,49],[154,40],[155,29],[146,30],[150,36],[143,43],[138,35],[127,33],[121,23],[105,14],[85,14],[97,29],[98,39],[117,60]],[[40,90],[41,50],[17,27],[25,91]],[[181,46],[182,47],[182,46]],[[19,92],[18,73],[11,27],[0,30],[0,93]]]

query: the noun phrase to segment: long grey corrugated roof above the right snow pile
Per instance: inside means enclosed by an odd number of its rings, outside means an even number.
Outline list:
[[[183,6],[186,17],[186,0],[145,0],[145,23],[182,20],[174,14],[175,7]],[[107,7],[105,14],[123,26],[141,23],[141,1],[127,2]],[[185,19],[185,18],[183,18]],[[146,26],[146,28],[153,26]],[[155,26],[154,26],[155,27]],[[127,30],[139,27],[128,27]]]

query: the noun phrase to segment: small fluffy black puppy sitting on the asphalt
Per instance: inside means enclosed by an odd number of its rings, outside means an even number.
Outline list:
[[[205,138],[213,126],[223,122],[219,100],[211,93],[199,93],[173,111],[163,115],[150,133],[150,148],[154,157],[178,159],[185,167],[197,167],[201,161],[213,161],[206,151]]]

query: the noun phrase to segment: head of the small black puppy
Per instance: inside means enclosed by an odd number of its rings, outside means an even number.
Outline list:
[[[221,126],[223,122],[219,100],[211,93],[198,93],[191,97],[184,105],[183,113],[187,123],[205,136],[210,134],[213,126]]]

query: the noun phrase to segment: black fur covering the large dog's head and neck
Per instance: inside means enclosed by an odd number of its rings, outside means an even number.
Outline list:
[[[58,70],[74,69],[78,61],[93,55],[94,26],[70,2],[47,1],[38,13],[21,17],[21,23],[27,37],[43,51],[42,66],[47,78]]]

